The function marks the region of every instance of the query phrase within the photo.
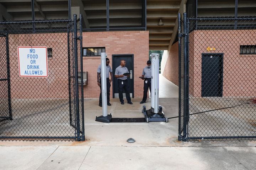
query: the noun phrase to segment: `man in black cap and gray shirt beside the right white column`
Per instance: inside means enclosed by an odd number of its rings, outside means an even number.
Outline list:
[[[143,68],[142,71],[142,79],[144,79],[144,87],[143,87],[143,98],[140,104],[146,103],[146,99],[148,96],[148,89],[151,93],[151,61],[147,61],[147,66]]]

